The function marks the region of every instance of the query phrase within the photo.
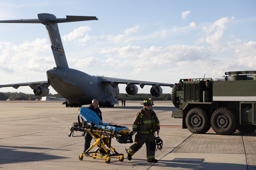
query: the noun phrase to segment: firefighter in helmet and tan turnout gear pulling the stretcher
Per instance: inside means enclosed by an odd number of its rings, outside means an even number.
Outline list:
[[[147,162],[156,163],[158,161],[155,159],[155,132],[157,132],[157,135],[159,134],[159,120],[156,113],[152,110],[152,106],[154,105],[152,99],[147,98],[141,104],[144,107],[138,111],[132,125],[132,134],[137,132],[134,144],[127,150],[125,148],[127,159],[131,161],[132,155],[146,143]]]

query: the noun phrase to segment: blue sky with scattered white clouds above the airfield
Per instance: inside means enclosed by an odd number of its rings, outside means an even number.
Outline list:
[[[256,70],[255,6],[256,1],[236,0],[0,0],[0,20],[37,19],[39,13],[96,16],[97,21],[58,24],[70,68],[174,84],[204,74],[217,78],[228,71]],[[46,71],[55,66],[44,25],[0,24],[0,84],[46,81]],[[119,88],[125,93],[125,85]],[[33,93],[29,87],[0,91]]]

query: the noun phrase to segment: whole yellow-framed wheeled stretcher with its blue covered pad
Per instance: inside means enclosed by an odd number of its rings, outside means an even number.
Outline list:
[[[78,123],[71,124],[68,136],[73,136],[74,131],[82,132],[82,135],[79,136],[84,136],[88,132],[95,140],[95,143],[86,152],[79,155],[79,160],[83,160],[85,155],[93,159],[104,158],[106,163],[110,163],[111,156],[118,156],[119,161],[123,162],[124,154],[118,153],[111,146],[111,139],[115,137],[119,143],[132,143],[130,129],[125,126],[102,123],[99,116],[88,108],[80,108],[78,112]],[[79,116],[81,116],[81,121]]]

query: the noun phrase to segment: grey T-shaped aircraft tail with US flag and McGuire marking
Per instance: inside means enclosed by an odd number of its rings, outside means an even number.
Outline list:
[[[0,23],[42,23],[46,26],[46,30],[51,43],[52,53],[54,55],[56,67],[68,68],[65,51],[62,45],[60,32],[57,23],[76,22],[98,20],[96,17],[90,16],[66,16],[67,18],[56,18],[52,14],[38,14],[38,19],[21,19],[21,20],[4,20]]]

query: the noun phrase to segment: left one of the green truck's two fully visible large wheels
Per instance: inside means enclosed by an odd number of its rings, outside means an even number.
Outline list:
[[[204,134],[210,129],[210,119],[201,108],[189,110],[185,121],[188,130],[195,134]]]

